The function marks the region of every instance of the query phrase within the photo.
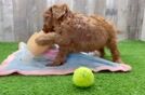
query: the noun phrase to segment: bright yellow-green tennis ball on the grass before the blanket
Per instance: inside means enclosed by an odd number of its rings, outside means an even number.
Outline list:
[[[72,82],[79,87],[89,87],[94,83],[94,74],[91,69],[87,67],[80,67],[75,70]]]

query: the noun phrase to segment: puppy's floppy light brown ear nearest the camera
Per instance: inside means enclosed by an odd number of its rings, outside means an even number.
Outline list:
[[[69,11],[67,4],[54,5],[52,8],[53,17],[58,19]]]

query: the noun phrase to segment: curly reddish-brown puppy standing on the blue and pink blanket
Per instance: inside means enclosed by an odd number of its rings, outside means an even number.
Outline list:
[[[65,63],[69,53],[98,50],[104,56],[105,46],[110,50],[114,62],[122,63],[117,48],[117,30],[98,15],[74,13],[66,4],[53,5],[44,13],[43,31],[55,32],[55,36],[53,39],[49,38],[49,33],[40,37],[36,39],[38,44],[60,45],[60,53],[53,65]]]

